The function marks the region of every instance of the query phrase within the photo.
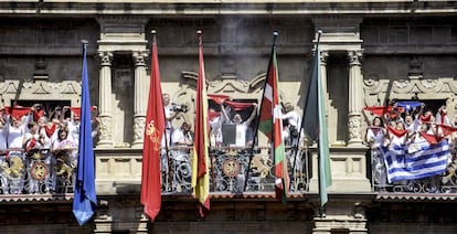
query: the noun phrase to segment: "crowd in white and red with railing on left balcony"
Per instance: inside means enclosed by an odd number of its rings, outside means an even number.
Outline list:
[[[15,103],[0,109],[0,193],[52,193],[73,184],[79,139],[78,107]],[[98,131],[94,118],[93,137]]]

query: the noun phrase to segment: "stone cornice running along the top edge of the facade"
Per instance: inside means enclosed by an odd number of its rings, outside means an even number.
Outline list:
[[[450,14],[457,12],[456,1],[414,0],[10,0],[0,3],[0,15],[231,15],[231,14]]]

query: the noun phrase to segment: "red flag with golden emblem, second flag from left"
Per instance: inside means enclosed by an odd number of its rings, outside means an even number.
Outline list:
[[[160,87],[159,57],[156,34],[152,36],[151,77],[148,111],[146,114],[145,143],[142,149],[141,203],[145,213],[153,221],[161,205],[160,142],[164,134],[166,116]]]

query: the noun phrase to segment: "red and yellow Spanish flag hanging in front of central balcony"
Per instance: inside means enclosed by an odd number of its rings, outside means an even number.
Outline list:
[[[210,211],[209,119],[202,33],[199,33],[199,78],[196,81],[195,130],[192,158],[192,193],[199,199],[200,215]]]

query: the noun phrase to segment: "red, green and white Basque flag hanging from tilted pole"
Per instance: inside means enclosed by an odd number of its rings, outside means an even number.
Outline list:
[[[283,141],[283,119],[278,91],[278,70],[276,60],[275,41],[277,32],[274,33],[275,40],[269,57],[267,78],[265,82],[264,96],[261,104],[258,116],[258,130],[264,132],[273,142],[273,155],[275,159],[275,191],[278,201],[286,201],[287,190],[289,189],[289,173],[287,170],[287,158]]]

